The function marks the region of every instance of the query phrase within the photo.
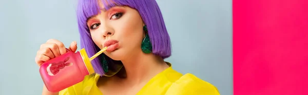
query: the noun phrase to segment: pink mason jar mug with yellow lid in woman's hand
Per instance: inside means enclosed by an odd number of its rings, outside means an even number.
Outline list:
[[[40,74],[46,88],[59,92],[84,80],[94,73],[85,49],[79,52],[67,52],[59,57],[46,61],[40,67]]]

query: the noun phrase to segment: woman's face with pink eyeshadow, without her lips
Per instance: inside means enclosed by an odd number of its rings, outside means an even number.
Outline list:
[[[103,9],[102,3],[99,4]],[[144,24],[137,10],[130,7],[113,7],[92,16],[88,19],[87,25],[94,43],[100,49],[105,47],[104,43],[108,40],[118,41],[114,51],[104,52],[113,60],[123,60],[142,52]]]

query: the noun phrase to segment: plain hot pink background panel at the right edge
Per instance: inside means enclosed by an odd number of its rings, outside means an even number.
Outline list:
[[[233,0],[234,94],[308,94],[308,1]]]

